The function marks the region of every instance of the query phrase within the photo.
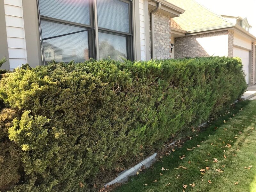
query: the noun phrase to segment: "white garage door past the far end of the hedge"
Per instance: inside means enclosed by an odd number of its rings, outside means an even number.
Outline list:
[[[249,51],[234,47],[234,57],[240,57],[244,66],[245,80],[249,84]]]

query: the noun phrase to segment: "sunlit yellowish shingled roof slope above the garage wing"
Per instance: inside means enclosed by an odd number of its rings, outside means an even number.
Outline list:
[[[223,28],[233,26],[229,20],[218,15],[194,0],[168,0],[186,11],[173,20],[188,33],[203,31],[207,28]]]

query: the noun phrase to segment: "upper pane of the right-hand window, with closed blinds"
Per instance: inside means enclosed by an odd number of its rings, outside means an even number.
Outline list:
[[[98,26],[129,33],[129,4],[120,0],[98,0]]]

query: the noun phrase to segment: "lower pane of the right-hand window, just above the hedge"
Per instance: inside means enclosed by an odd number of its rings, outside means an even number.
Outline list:
[[[127,58],[126,37],[99,32],[100,59],[122,60]]]

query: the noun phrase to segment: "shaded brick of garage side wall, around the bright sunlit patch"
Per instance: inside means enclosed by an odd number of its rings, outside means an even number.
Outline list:
[[[204,33],[198,35],[191,35],[185,37],[177,37],[175,38],[175,53],[174,57],[176,58],[184,58],[184,57],[207,57],[210,56],[204,48],[198,43],[196,38],[202,37],[212,37],[212,36],[221,36],[228,35],[228,30],[212,32],[212,33]],[[218,49],[218,43],[212,44]],[[230,51],[231,53],[231,51]]]

